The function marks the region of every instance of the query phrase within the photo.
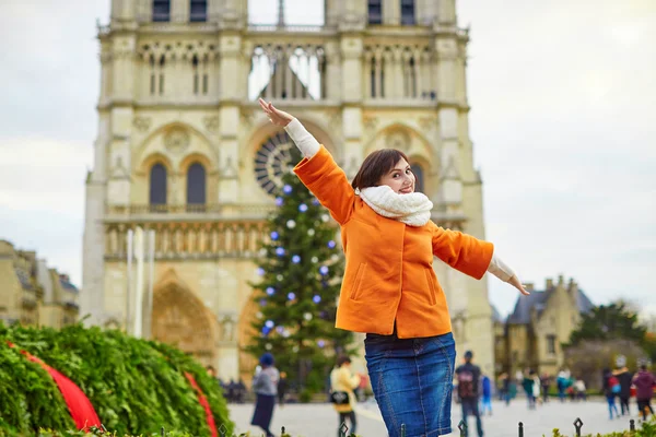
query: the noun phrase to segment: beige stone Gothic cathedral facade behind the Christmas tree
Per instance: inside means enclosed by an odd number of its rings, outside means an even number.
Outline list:
[[[274,0],[270,0],[274,1]],[[311,0],[308,0],[311,1]],[[312,0],[319,1],[319,0]],[[455,0],[325,0],[323,25],[248,20],[248,0],[113,0],[98,26],[101,94],[86,180],[81,314],[126,328],[126,236],[154,231],[144,332],[249,379],[258,244],[293,146],[273,101],[353,176],[370,152],[406,152],[433,220],[484,238],[469,138],[468,32]],[[279,10],[283,10],[280,5]],[[485,280],[435,260],[458,352],[493,371]],[[280,352],[282,353],[282,352]]]

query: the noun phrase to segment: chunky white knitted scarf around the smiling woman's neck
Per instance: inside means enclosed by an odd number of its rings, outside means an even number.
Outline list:
[[[431,220],[433,202],[421,192],[399,194],[386,185],[355,190],[355,193],[376,213],[409,226],[423,226]]]

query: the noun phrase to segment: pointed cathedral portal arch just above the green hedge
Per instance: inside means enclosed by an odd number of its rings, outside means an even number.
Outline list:
[[[153,296],[153,339],[172,344],[203,365],[214,364],[214,330],[207,308],[175,282],[157,287]]]

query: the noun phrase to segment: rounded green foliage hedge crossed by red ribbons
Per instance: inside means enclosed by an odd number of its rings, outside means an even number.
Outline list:
[[[9,347],[8,340],[17,347]],[[233,433],[218,381],[174,347],[81,324],[58,331],[0,323],[0,434],[75,428],[50,376],[20,349],[73,380],[105,428],[118,435],[151,434],[162,427],[209,435],[206,412],[185,371],[194,375],[206,394],[216,427],[225,425],[229,435]]]

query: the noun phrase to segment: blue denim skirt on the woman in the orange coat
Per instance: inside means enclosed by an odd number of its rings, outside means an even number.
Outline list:
[[[450,434],[456,359],[453,334],[398,339],[367,334],[366,367],[389,437]]]

